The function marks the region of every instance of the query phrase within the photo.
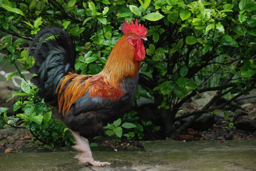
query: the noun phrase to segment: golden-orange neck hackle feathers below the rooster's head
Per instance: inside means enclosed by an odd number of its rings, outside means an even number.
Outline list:
[[[125,78],[134,78],[140,69],[140,61],[134,58],[134,47],[127,41],[128,35],[124,35],[113,47],[108,61],[99,75],[105,80],[106,84],[117,87],[117,84]]]

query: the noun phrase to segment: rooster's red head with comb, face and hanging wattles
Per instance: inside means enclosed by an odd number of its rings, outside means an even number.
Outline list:
[[[131,19],[131,24],[126,20],[121,26],[122,32],[127,36],[127,41],[134,46],[134,55],[137,61],[141,61],[145,58],[146,52],[143,45],[143,41],[147,41],[147,29],[138,24],[138,20],[135,20],[135,24]]]

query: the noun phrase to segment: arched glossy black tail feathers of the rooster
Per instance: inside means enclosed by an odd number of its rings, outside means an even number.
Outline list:
[[[68,72],[76,72],[73,38],[57,27],[41,30],[31,42],[28,54],[33,55],[36,61],[30,70],[38,75],[31,79],[39,87],[38,95],[52,105],[57,104],[55,89],[58,82]]]

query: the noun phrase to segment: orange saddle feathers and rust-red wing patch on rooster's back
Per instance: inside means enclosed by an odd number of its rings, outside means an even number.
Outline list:
[[[63,115],[70,110],[79,98],[88,93],[85,98],[99,98],[100,100],[116,101],[124,94],[122,84],[113,87],[106,84],[102,75],[79,75],[69,73],[58,84],[56,94],[58,94],[59,112]]]

